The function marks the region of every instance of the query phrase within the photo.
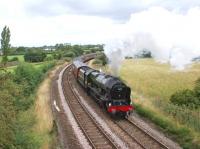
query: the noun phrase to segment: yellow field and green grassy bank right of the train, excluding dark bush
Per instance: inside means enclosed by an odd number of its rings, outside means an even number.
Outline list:
[[[108,68],[102,70],[109,72]],[[178,90],[192,89],[200,77],[200,64],[175,71],[153,59],[125,60],[120,78],[132,89],[136,112],[147,117],[183,148],[200,147],[200,111],[169,102]]]

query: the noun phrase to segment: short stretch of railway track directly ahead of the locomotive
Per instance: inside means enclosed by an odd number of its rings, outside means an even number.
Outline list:
[[[169,149],[169,147],[128,118],[115,121],[115,123],[144,149]]]

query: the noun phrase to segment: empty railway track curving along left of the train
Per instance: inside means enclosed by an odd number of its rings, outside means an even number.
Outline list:
[[[71,66],[66,68],[62,78],[64,95],[67,97],[67,103],[90,146],[105,149],[118,148],[79,101],[71,85],[70,69]]]

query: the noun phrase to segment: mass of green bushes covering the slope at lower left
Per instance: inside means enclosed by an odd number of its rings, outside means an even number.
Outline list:
[[[13,74],[0,70],[0,148],[39,148],[41,139],[32,130],[35,90],[54,65],[21,64]]]

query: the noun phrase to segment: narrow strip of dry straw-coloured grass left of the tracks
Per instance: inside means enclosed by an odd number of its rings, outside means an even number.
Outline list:
[[[56,134],[52,133],[53,115],[50,107],[50,84],[57,69],[50,71],[45,80],[40,84],[37,93],[34,113],[36,114],[36,124],[34,126],[37,136],[42,138],[41,149],[48,149],[55,147]]]

